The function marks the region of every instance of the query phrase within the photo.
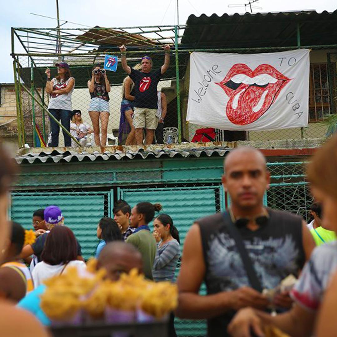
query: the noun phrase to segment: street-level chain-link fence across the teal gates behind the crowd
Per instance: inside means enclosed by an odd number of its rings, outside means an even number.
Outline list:
[[[91,169],[85,165],[79,169],[76,164],[56,168],[46,163],[42,165],[43,170],[35,173],[23,170],[12,192],[10,216],[26,228],[32,228],[34,210],[58,205],[65,224],[74,231],[83,256],[88,259],[98,244],[98,221],[103,216],[113,216],[116,200],[122,198],[131,207],[141,201],[160,203],[179,230],[182,249],[196,219],[223,211],[228,204],[221,185],[222,159],[207,165],[209,159],[199,159],[196,167],[181,163],[151,167],[150,161],[141,160],[132,162],[132,170],[117,164],[109,168],[99,162]],[[267,165],[271,184],[266,205],[302,215],[309,221],[312,196],[305,179],[305,162],[268,162]],[[153,229],[152,224],[150,228]],[[179,268],[180,264],[176,275]],[[201,294],[205,291],[203,284]],[[175,326],[178,336],[206,335],[204,320],[176,319]]]

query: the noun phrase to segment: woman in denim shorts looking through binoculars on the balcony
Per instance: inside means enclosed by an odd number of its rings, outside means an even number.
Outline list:
[[[91,96],[89,105],[89,116],[94,129],[94,139],[96,146],[105,146],[108,135],[109,121],[109,92],[110,83],[106,72],[99,65],[92,69],[91,80],[88,81],[88,88]],[[99,139],[99,120],[101,121],[101,139]]]

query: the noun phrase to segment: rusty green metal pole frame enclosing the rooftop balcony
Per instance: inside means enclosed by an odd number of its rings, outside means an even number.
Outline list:
[[[189,25],[191,26],[191,25]],[[13,57],[14,85],[17,94],[17,115],[19,128],[19,146],[25,144],[25,129],[24,118],[22,112],[21,92],[24,90],[32,99],[32,123],[35,124],[34,105],[37,103],[43,110],[42,115],[42,130],[43,137],[46,139],[45,132],[45,114],[51,116],[47,110],[47,105],[44,102],[44,88],[42,94],[34,86],[34,68],[37,68],[41,78],[43,74],[40,69],[43,66],[48,66],[50,63],[57,60],[66,61],[73,58],[91,58],[92,64],[97,58],[101,58],[104,54],[110,52],[120,56],[118,45],[128,43],[127,56],[132,58],[141,53],[158,54],[162,53],[162,45],[171,43],[174,47],[175,55],[175,78],[180,79],[179,73],[179,54],[191,53],[193,51],[200,52],[271,52],[291,50],[294,48],[307,49],[336,49],[337,44],[329,45],[301,45],[300,25],[297,24],[297,45],[287,47],[259,47],[259,48],[185,48],[179,45],[181,32],[187,26],[185,25],[165,25],[165,26],[142,26],[142,27],[114,27],[114,28],[12,28],[11,41],[12,49],[11,56]],[[24,52],[15,50],[15,39],[20,42]],[[58,50],[58,43],[61,45],[61,53]],[[30,85],[22,83],[20,71],[23,66],[20,64],[20,59],[27,57],[28,65],[31,67]],[[177,91],[177,120],[178,120],[178,135],[180,143],[182,141],[182,116],[181,116],[181,100],[179,81],[176,81]],[[27,89],[29,87],[29,90]],[[37,101],[38,97],[39,101]],[[53,117],[51,117],[53,118]],[[64,127],[57,122],[61,128]],[[66,130],[68,133],[68,131]],[[33,127],[33,144],[35,146],[36,130]],[[301,137],[304,137],[304,129],[301,129]],[[73,138],[74,139],[74,138]],[[78,143],[75,140],[76,143]]]

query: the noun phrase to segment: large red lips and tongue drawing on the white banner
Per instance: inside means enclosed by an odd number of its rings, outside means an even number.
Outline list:
[[[269,75],[271,82],[258,84],[236,83],[238,78],[254,78],[259,75]],[[236,76],[236,75],[239,75]],[[245,75],[245,76],[242,76]],[[236,78],[234,78],[236,76]],[[261,78],[261,76],[259,76]],[[235,79],[233,82],[232,79]],[[246,64],[237,63],[229,69],[226,77],[218,84],[229,97],[226,115],[233,124],[247,125],[260,118],[273,104],[282,88],[289,82],[286,76],[269,64],[260,64],[251,70]],[[250,81],[247,81],[250,82]]]

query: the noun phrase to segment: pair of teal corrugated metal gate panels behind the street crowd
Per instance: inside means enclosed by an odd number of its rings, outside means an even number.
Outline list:
[[[118,189],[119,198],[126,200],[131,207],[141,201],[160,203],[163,212],[170,214],[177,226],[181,239],[181,249],[186,234],[193,221],[224,209],[224,193],[221,185],[178,188]],[[96,228],[105,209],[112,209],[112,191],[79,192],[13,192],[10,217],[25,228],[32,228],[32,214],[38,208],[58,205],[69,226],[82,246],[85,259],[93,255],[97,246]],[[106,208],[107,207],[107,208]],[[150,224],[152,228],[152,224]],[[178,275],[179,268],[176,274]],[[205,285],[201,294],[206,293]],[[203,320],[175,321],[178,336],[206,336],[206,323]]]

